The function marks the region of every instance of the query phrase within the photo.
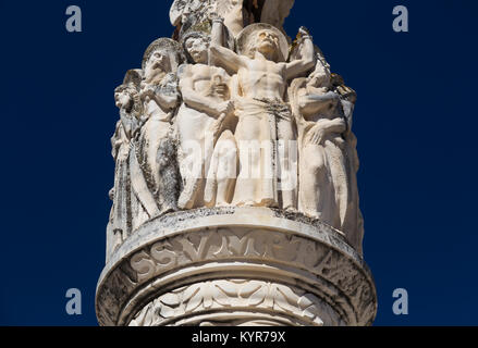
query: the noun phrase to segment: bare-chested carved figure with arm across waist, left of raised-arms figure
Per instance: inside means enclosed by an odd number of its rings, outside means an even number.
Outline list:
[[[177,130],[181,144],[181,175],[183,177],[183,191],[179,199],[179,207],[192,209],[215,204],[210,187],[210,197],[205,201],[205,188],[209,179],[209,166],[215,146],[221,136],[223,125],[226,124],[234,112],[230,101],[230,76],[217,66],[209,66],[208,49],[209,39],[204,33],[188,33],[183,38],[184,49],[192,64],[180,67],[180,87],[183,103],[177,112]],[[230,130],[228,130],[230,133]],[[228,137],[224,134],[223,137]],[[232,134],[231,134],[232,136]],[[221,142],[222,144],[222,142]],[[234,145],[235,148],[235,145]],[[226,160],[221,159],[220,162]],[[235,159],[233,159],[235,162]],[[210,177],[210,179],[216,179]],[[209,186],[212,185],[211,183]],[[228,188],[229,187],[229,188]],[[231,183],[220,185],[219,192],[221,204],[228,203]],[[213,195],[216,196],[216,195]]]

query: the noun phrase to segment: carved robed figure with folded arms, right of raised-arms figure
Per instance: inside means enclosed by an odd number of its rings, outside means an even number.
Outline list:
[[[298,128],[298,209],[354,240],[361,225],[355,181],[358,159],[341,95],[334,90],[323,57],[319,54],[309,77],[292,83],[289,95]]]

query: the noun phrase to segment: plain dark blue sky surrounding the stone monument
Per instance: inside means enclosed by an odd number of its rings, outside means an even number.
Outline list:
[[[96,325],[113,185],[113,90],[157,37],[172,1],[0,0],[0,325]],[[83,33],[65,9],[83,10]],[[392,9],[409,10],[409,33]],[[478,325],[478,2],[296,0],[332,70],[357,90],[355,133],[377,283],[376,325]],[[83,315],[65,291],[83,293]],[[406,288],[409,315],[392,293]]]

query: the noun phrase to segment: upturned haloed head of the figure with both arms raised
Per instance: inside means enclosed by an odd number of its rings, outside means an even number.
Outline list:
[[[289,54],[289,42],[278,28],[256,23],[245,27],[238,35],[237,51],[249,58],[260,52],[274,62],[284,62]]]

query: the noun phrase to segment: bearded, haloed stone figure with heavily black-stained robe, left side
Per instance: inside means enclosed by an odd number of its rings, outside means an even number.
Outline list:
[[[132,158],[132,183],[138,197],[138,204],[133,207],[137,216],[134,227],[176,210],[179,175],[172,119],[181,99],[175,72],[183,60],[181,46],[169,38],[155,40],[143,59],[139,96],[146,122]]]

